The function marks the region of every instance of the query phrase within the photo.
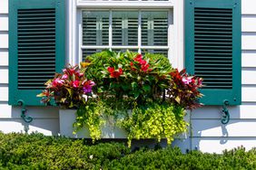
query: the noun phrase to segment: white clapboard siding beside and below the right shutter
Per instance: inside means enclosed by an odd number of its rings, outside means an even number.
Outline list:
[[[229,107],[231,120],[222,125],[222,107],[192,111],[192,149],[222,153],[224,149],[256,147],[256,1],[241,0],[241,99]]]

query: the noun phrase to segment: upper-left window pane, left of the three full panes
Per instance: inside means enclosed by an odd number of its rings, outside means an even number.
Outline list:
[[[83,44],[108,45],[109,12],[83,12]]]

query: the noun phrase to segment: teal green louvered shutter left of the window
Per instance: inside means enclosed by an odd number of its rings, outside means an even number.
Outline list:
[[[9,0],[10,105],[42,105],[36,94],[65,65],[64,12],[63,0]]]

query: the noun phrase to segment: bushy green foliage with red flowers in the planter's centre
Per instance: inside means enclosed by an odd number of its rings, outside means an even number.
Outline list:
[[[128,97],[143,105],[148,100],[161,99],[171,80],[170,61],[160,54],[103,51],[88,56],[86,61],[90,65],[85,74],[94,80],[94,89],[103,99]]]

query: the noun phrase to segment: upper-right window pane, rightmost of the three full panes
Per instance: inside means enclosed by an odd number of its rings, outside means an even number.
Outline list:
[[[168,12],[142,12],[142,44],[168,45]]]

